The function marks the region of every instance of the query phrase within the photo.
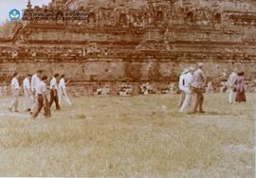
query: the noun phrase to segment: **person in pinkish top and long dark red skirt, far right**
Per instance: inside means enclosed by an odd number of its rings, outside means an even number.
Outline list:
[[[236,90],[235,101],[236,102],[247,101],[244,75],[245,75],[244,72],[239,72],[235,80],[235,90]]]

